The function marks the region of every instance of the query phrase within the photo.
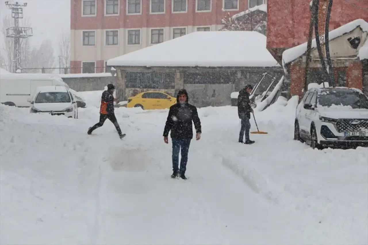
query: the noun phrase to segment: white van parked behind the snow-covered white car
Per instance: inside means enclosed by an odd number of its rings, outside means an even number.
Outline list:
[[[69,86],[58,75],[38,73],[0,73],[0,103],[30,107],[27,101],[39,86]]]

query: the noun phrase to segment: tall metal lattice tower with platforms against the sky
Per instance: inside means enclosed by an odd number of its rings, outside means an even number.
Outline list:
[[[6,37],[14,39],[13,72],[15,73],[21,64],[21,39],[32,36],[32,28],[19,26],[19,19],[23,18],[23,7],[26,7],[27,3],[21,5],[18,2],[6,1],[5,5],[11,9],[11,17],[14,18],[14,26],[6,29]]]

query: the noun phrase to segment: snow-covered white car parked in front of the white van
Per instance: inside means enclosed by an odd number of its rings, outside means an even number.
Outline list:
[[[39,86],[31,103],[30,113],[49,113],[78,118],[78,106],[70,90],[64,86]]]

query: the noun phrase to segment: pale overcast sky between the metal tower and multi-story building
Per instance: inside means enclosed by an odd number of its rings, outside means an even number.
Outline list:
[[[33,28],[33,36],[29,38],[31,45],[39,46],[43,40],[50,39],[57,57],[60,35],[70,32],[70,0],[20,0],[18,3],[28,4],[24,8],[24,19],[29,18]],[[11,16],[11,10],[7,9],[5,0],[0,0],[0,27],[4,15]]]

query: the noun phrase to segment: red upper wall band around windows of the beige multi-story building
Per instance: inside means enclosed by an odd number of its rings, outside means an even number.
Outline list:
[[[105,16],[105,0],[96,3],[96,17],[82,17],[82,0],[71,0],[70,29],[118,29],[118,28],[144,28],[163,26],[206,26],[220,25],[221,19],[228,11],[222,11],[223,0],[212,0],[212,11],[195,11],[196,1],[188,0],[187,13],[171,13],[172,0],[166,0],[165,14],[150,14],[151,1],[142,0],[142,14],[127,15],[126,0],[120,0],[120,13],[118,16]],[[248,0],[239,0],[239,10],[230,10],[231,14],[237,14],[248,9]]]

